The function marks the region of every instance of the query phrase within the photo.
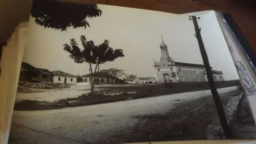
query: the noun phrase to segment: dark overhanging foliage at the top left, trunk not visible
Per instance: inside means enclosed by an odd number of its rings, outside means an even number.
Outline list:
[[[33,0],[31,15],[45,28],[65,31],[89,25],[86,18],[99,17],[102,11],[96,4],[78,4],[60,0]]]

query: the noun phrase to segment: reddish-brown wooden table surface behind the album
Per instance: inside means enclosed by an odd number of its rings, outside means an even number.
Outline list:
[[[255,0],[67,0],[72,2],[87,2],[108,4],[114,6],[134,7],[164,11],[168,13],[190,13],[203,10],[216,10],[222,13],[231,13],[239,25],[241,31],[249,40],[254,52],[256,52],[256,1]],[[196,1],[196,2],[195,2]],[[7,40],[11,32],[21,21],[28,20],[32,0],[4,0],[6,18],[3,20],[4,34],[1,42]],[[1,6],[0,6],[1,7]],[[19,9],[19,10],[17,10]],[[12,11],[12,13],[10,13]],[[2,15],[2,14],[0,14]],[[11,18],[10,18],[11,17]],[[0,18],[1,19],[1,18]]]

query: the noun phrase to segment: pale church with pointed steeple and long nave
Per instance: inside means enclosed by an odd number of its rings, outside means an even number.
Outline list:
[[[181,63],[169,56],[168,48],[161,36],[160,62],[154,59],[156,82],[202,82],[208,81],[204,65]],[[214,81],[224,81],[223,72],[212,70]]]

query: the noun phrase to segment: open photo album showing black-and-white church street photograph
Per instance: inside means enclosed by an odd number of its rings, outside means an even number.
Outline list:
[[[1,144],[256,139],[256,68],[218,11],[33,0],[0,68]]]

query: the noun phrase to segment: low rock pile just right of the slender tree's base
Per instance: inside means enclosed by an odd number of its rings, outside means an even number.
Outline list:
[[[90,95],[91,93],[89,92],[87,95]],[[111,91],[106,91],[106,90],[95,90],[94,95],[98,96],[118,96],[122,94],[137,94],[136,91],[133,92],[126,92],[126,91],[119,91],[119,90],[111,90]]]

